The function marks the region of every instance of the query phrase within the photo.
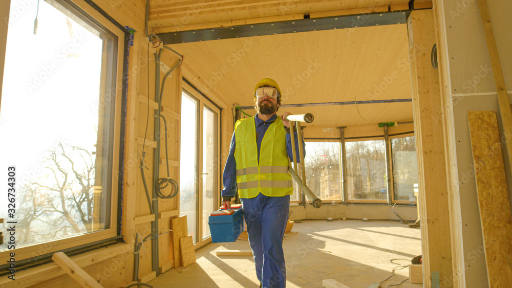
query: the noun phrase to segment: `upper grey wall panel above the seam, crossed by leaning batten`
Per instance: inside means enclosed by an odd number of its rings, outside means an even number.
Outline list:
[[[478,1],[443,1],[453,94],[496,92]],[[487,1],[505,83],[512,87],[512,1]],[[510,89],[510,88],[509,88]]]

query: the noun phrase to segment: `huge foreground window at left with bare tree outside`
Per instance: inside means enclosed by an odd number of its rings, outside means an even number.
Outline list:
[[[64,1],[41,1],[35,30],[24,5],[11,2],[0,110],[0,169],[16,173],[0,217],[16,221],[17,260],[117,235],[124,40]]]

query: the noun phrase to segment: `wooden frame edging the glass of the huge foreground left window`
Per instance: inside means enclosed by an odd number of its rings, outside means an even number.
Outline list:
[[[9,2],[9,1],[7,1]],[[4,2],[3,2],[4,3]],[[122,73],[123,73],[123,59],[124,59],[124,40],[125,33],[120,30],[116,25],[114,25],[109,19],[105,18],[100,12],[98,12],[95,8],[90,6],[83,0],[73,0],[73,4],[75,4],[79,9],[83,11],[84,14],[89,15],[90,17],[97,20],[101,25],[103,25],[106,29],[111,31],[117,36],[117,59],[116,59],[116,76],[115,76],[115,112],[112,116],[114,118],[114,131],[113,131],[113,155],[112,155],[112,167],[111,168],[111,207],[110,207],[110,228],[104,229],[101,231],[90,232],[87,234],[81,234],[77,236],[72,236],[63,239],[56,239],[53,241],[46,241],[42,243],[35,243],[34,245],[30,245],[27,247],[16,248],[16,260],[28,259],[31,257],[36,257],[40,255],[49,254],[56,251],[62,251],[65,249],[70,249],[73,247],[78,247],[82,245],[87,245],[89,243],[101,241],[104,239],[109,239],[116,237],[117,234],[117,204],[118,204],[118,175],[119,175],[119,136],[120,136],[120,127],[121,127],[121,98],[122,98]],[[4,5],[4,4],[2,4]],[[4,13],[6,10],[2,10]],[[8,11],[8,10],[7,10]],[[0,42],[1,43],[1,42]],[[5,50],[5,47],[1,47],[1,51]],[[3,74],[2,74],[3,75]],[[0,261],[2,263],[6,263],[9,259],[9,251],[3,251],[0,253]]]

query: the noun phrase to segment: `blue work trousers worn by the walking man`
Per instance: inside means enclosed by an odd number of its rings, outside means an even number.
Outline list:
[[[253,198],[242,198],[242,208],[258,280],[264,288],[285,287],[283,236],[290,195],[269,197],[260,193]]]

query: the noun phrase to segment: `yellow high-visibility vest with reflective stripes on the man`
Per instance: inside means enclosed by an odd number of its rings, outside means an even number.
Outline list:
[[[237,188],[241,198],[253,198],[261,192],[266,196],[293,194],[288,172],[286,131],[280,117],[270,124],[260,147],[256,144],[254,117],[238,120],[234,125],[237,162]]]

